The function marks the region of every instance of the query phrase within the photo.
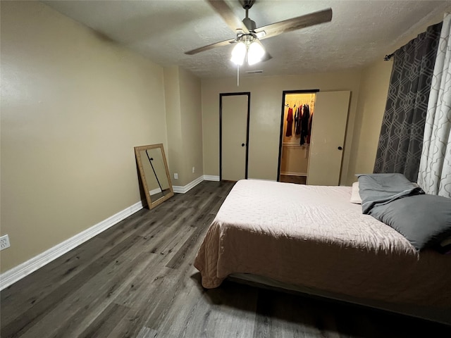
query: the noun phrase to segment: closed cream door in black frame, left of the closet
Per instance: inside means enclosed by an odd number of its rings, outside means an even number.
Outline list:
[[[247,174],[248,94],[221,95],[221,180]]]

